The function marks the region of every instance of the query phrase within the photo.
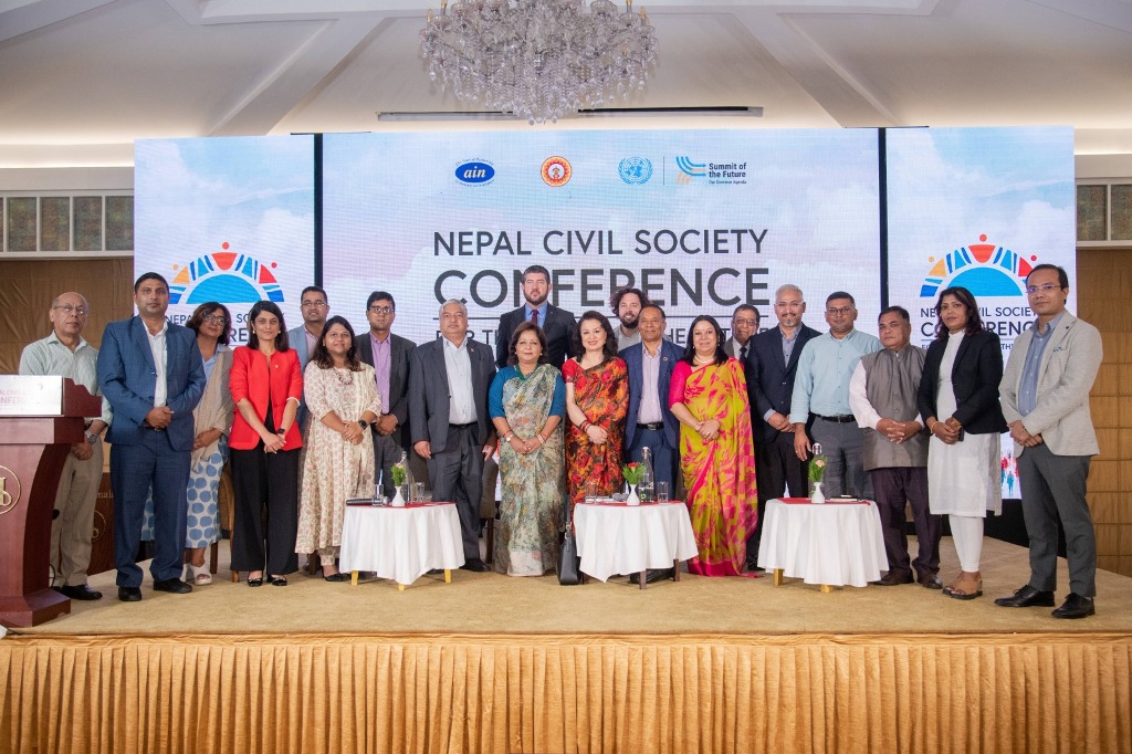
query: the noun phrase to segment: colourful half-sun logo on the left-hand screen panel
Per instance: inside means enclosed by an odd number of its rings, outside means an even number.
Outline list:
[[[221,248],[224,250],[197,257],[185,266],[173,265],[178,273],[169,284],[171,305],[283,301],[283,289],[272,274],[277,263],[264,264],[250,255],[229,251],[228,241]]]

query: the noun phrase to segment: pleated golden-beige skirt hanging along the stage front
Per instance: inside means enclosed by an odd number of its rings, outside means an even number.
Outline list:
[[[1129,634],[0,641],[5,752],[1132,751]]]

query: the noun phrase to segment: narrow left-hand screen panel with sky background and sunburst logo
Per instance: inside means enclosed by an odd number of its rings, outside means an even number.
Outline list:
[[[170,285],[169,319],[197,306],[232,314],[232,343],[247,314],[274,301],[288,326],[302,322],[299,293],[315,280],[311,136],[149,139],[135,146],[136,274]]]

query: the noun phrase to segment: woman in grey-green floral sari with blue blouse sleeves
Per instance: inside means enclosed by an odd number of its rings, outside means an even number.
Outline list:
[[[558,559],[566,388],[546,352],[538,325],[521,324],[511,337],[508,366],[488,393],[503,477],[495,568],[509,576],[541,576]]]

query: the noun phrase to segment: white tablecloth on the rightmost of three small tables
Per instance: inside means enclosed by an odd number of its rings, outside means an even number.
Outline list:
[[[792,499],[792,498],[791,498]],[[767,500],[758,565],[807,584],[865,586],[887,569],[881,513],[860,503]]]

